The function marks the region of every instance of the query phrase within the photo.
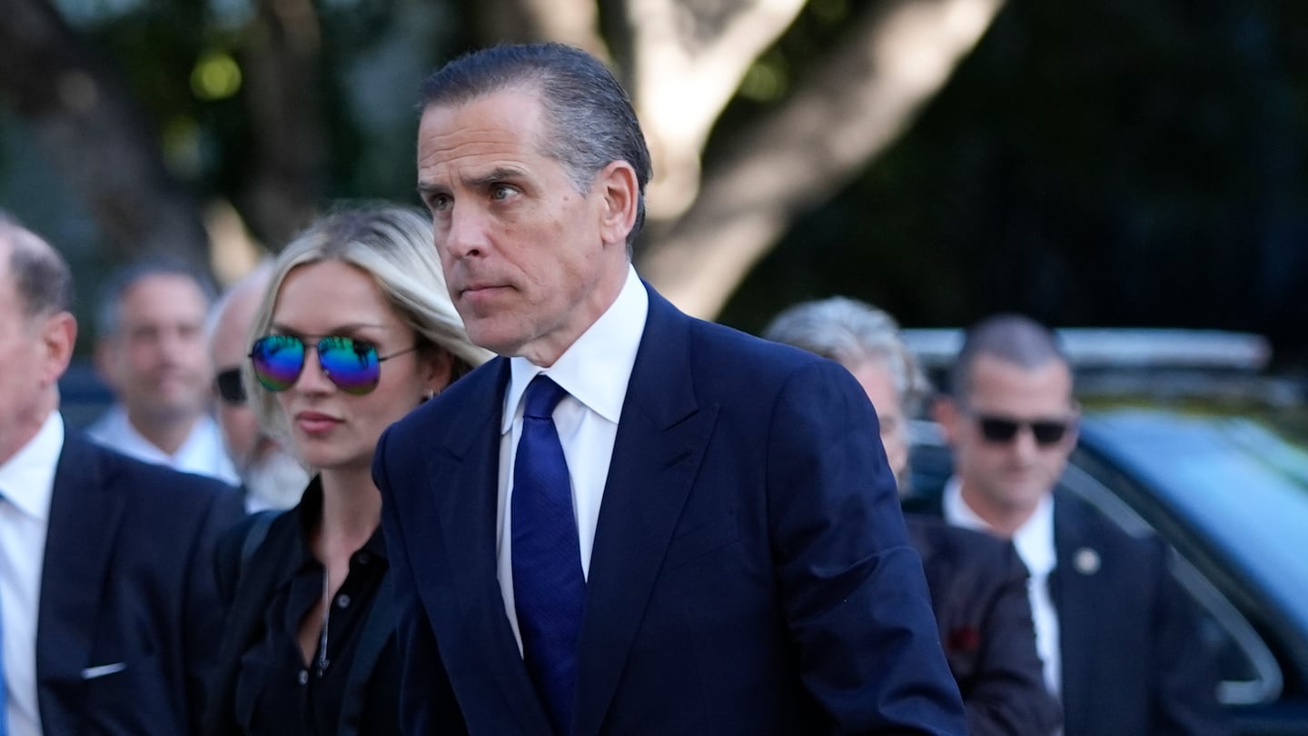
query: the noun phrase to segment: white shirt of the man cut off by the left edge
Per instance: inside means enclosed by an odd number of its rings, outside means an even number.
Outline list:
[[[0,465],[0,601],[9,736],[41,736],[37,613],[50,499],[64,448],[64,419],[51,411],[37,435]]]

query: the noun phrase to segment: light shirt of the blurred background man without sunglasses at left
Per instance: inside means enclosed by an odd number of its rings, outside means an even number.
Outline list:
[[[191,433],[173,454],[164,452],[137,432],[127,418],[127,409],[119,403],[111,406],[103,416],[88,427],[86,433],[110,449],[145,462],[208,475],[229,486],[241,485],[241,477],[237,475],[237,469],[228,457],[228,448],[222,444],[222,431],[208,414],[201,414],[195,420]]]

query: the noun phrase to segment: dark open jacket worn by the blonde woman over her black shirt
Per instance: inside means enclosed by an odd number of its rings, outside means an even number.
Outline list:
[[[300,563],[303,554],[305,540],[298,508],[264,513],[273,516],[271,521],[266,520],[267,530],[262,540],[256,540],[255,547],[247,547],[246,540],[258,515],[218,541],[216,571],[220,597],[228,606],[228,621],[220,647],[218,673],[204,718],[207,736],[241,733],[235,716],[235,681],[241,656],[264,635],[263,625],[268,604],[277,585],[294,572],[293,567]],[[242,559],[245,555],[249,557]],[[382,579],[369,604],[364,627],[357,634],[358,643],[349,661],[336,736],[354,736],[365,726],[362,714],[368,710],[369,680],[377,671],[385,647],[394,646],[395,596],[388,579],[388,574]]]

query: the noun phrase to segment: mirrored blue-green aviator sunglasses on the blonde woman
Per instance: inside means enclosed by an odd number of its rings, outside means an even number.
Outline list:
[[[361,396],[377,388],[382,376],[382,361],[405,352],[413,352],[413,346],[390,355],[377,355],[377,346],[370,342],[326,335],[317,343],[306,343],[297,335],[264,335],[254,340],[250,360],[259,384],[269,392],[284,392],[296,385],[305,369],[305,350],[313,344],[318,351],[318,365],[323,375],[340,390]]]

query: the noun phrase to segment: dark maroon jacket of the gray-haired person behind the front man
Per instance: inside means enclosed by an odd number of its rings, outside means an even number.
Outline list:
[[[1062,708],[1045,689],[1027,568],[1012,542],[917,513],[904,521],[972,736],[1053,733]]]

